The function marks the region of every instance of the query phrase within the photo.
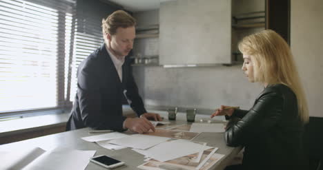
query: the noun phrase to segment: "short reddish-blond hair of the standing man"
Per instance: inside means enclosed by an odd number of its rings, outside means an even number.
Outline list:
[[[106,19],[102,19],[102,34],[106,39],[106,33],[114,35],[117,28],[129,28],[136,25],[136,20],[123,10],[117,10]]]

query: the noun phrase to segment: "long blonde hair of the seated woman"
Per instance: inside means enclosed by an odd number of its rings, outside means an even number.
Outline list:
[[[273,30],[251,34],[239,43],[239,50],[251,56],[255,81],[290,87],[297,97],[298,115],[306,123],[309,110],[291,49],[282,36]]]

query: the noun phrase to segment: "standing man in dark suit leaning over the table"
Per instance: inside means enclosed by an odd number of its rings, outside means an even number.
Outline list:
[[[77,70],[77,94],[66,129],[130,129],[137,133],[155,131],[147,118],[161,120],[159,114],[147,113],[138,94],[130,59],[136,21],[117,10],[102,20],[104,44],[85,59]],[[122,98],[139,118],[122,116]]]

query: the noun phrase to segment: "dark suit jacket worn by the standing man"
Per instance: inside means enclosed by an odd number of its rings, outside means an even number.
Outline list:
[[[121,82],[103,44],[79,65],[77,94],[66,130],[83,127],[124,130],[123,95],[138,116],[146,112],[133,78],[130,59],[126,57],[122,66]]]

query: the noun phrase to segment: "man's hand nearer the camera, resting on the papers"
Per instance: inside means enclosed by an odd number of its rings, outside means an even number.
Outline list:
[[[124,120],[124,126],[131,131],[135,131],[139,134],[144,134],[148,132],[150,129],[155,131],[155,127],[150,123],[145,117],[141,118],[126,118]]]

